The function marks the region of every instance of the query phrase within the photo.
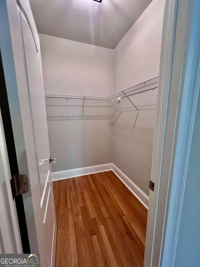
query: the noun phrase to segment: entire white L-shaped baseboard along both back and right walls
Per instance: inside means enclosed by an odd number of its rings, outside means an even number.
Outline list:
[[[149,197],[113,163],[83,167],[61,172],[52,172],[52,178],[53,181],[57,181],[107,171],[113,171],[117,175],[117,177],[126,185],[126,187],[128,187],[128,189],[136,196],[136,198],[139,199],[144,207],[148,209]]]

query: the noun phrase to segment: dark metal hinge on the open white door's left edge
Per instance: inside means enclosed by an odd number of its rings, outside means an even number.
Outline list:
[[[29,191],[28,177],[26,174],[13,175],[13,177],[10,179],[10,184],[13,200],[16,196],[25,194]]]

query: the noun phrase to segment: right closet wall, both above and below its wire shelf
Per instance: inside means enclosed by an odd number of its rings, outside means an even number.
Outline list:
[[[164,0],[153,0],[115,51],[114,91],[158,76]],[[157,90],[120,102],[123,114],[113,126],[113,163],[149,194]]]

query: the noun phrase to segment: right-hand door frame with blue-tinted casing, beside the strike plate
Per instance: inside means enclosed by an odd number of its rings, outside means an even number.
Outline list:
[[[200,4],[165,1],[144,266],[174,266],[200,87]]]

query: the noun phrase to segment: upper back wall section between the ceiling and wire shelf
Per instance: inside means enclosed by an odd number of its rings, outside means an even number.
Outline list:
[[[40,34],[45,93],[113,93],[113,49]]]

